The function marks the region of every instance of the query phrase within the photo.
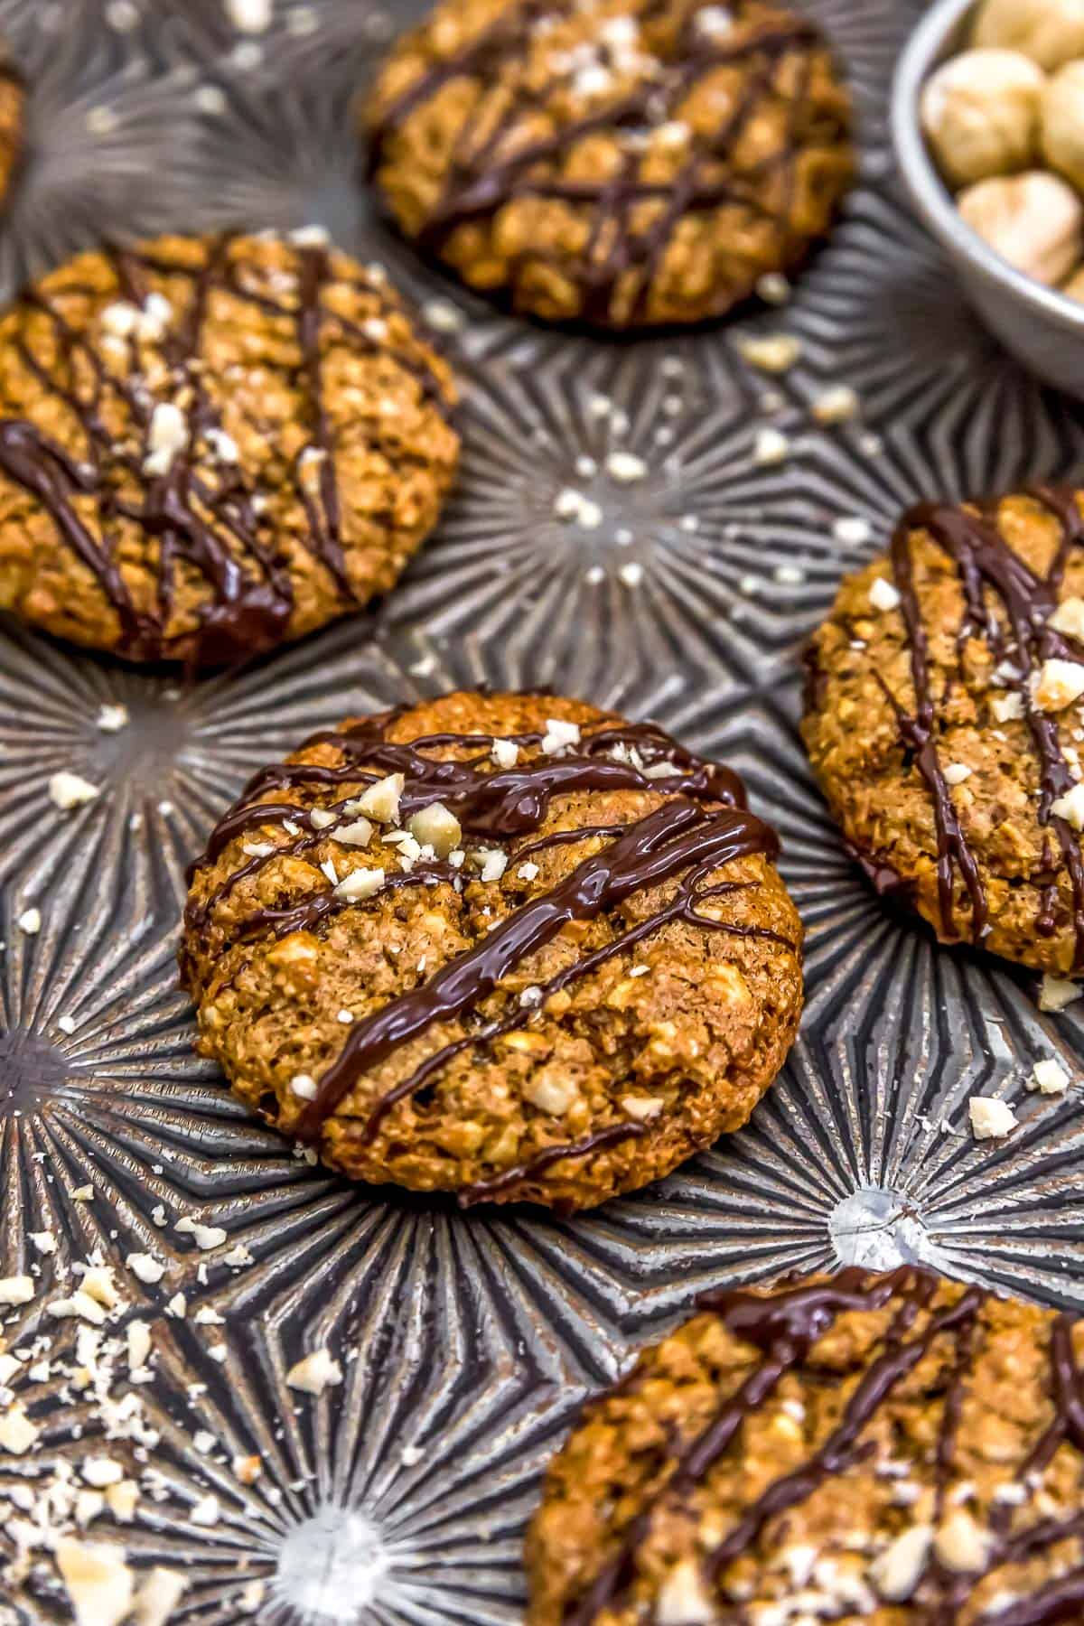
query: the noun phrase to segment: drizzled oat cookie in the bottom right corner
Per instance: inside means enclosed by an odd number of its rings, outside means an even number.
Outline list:
[[[1084,1324],[913,1268],[702,1306],[551,1465],[530,1626],[1084,1619]]]

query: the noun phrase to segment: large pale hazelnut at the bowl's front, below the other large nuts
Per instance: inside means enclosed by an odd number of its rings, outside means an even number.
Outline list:
[[[960,192],[959,211],[1003,260],[1053,288],[1084,259],[1084,203],[1056,176],[980,180]]]

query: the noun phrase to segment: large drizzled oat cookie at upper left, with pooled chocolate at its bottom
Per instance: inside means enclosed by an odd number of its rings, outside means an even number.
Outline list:
[[[392,587],[452,483],[447,367],[322,234],[81,254],[0,319],[0,608],[236,663]]]

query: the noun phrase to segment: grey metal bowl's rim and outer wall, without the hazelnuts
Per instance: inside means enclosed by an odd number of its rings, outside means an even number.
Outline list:
[[[1014,270],[960,220],[921,130],[930,73],[967,42],[975,0],[939,0],[912,34],[892,91],[892,138],[926,229],[951,255],[969,299],[1001,343],[1048,384],[1084,400],[1084,304]]]

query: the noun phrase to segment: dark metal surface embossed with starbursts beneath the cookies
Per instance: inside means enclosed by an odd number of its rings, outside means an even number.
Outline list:
[[[349,106],[410,10],[276,0],[268,31],[239,34],[223,0],[0,0],[34,83],[5,288],[99,231],[320,221],[465,317],[444,338],[465,389],[458,496],[374,615],[192,686],[0,629],[0,1276],[34,1276],[3,1340],[28,1351],[44,1328],[62,1367],[78,1322],[47,1306],[98,1257],[124,1296],[104,1337],[138,1319],[154,1351],[150,1382],[115,1372],[135,1436],[78,1387],[21,1380],[41,1433],[26,1457],[0,1450],[0,1507],[28,1467],[41,1486],[98,1449],[122,1459],[135,1519],[104,1514],[85,1540],[180,1569],[176,1618],[208,1626],[520,1619],[540,1465],[702,1286],[918,1257],[1084,1299],[1084,1003],[1040,1015],[1032,977],[889,914],[795,730],[801,641],[904,504],[1084,463],[1081,410],[998,353],[897,197],[882,115],[918,0],[809,0],[856,86],[865,163],[788,309],[739,324],[803,340],[783,379],[749,372],[733,328],[616,343],[512,320],[392,239],[358,189]],[[824,428],[811,405],[839,384],[861,416]],[[627,416],[618,439],[595,395]],[[754,459],[767,424],[790,442],[777,465]],[[608,478],[616,444],[644,480]],[[567,486],[598,525],[554,517]],[[574,1221],[463,1216],[310,1167],[195,1059],[176,987],[184,865],[244,779],[351,711],[479,681],[650,714],[735,763],[809,930],[803,1034],[751,1127]],[[102,732],[115,704],[128,725]],[[59,811],[60,769],[101,795]],[[16,924],[31,907],[34,935]],[[1064,1099],[1027,1093],[1042,1055],[1073,1075]],[[1011,1140],[973,1141],[975,1093],[1014,1104]],[[200,1247],[177,1221],[228,1237]],[[320,1346],[343,1384],[288,1389]],[[239,1483],[232,1459],[257,1452]],[[47,1543],[24,1571],[0,1621],[68,1619]]]

